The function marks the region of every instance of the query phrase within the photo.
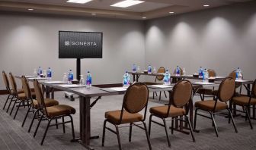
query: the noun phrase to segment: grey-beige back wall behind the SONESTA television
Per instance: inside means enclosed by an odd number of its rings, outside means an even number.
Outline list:
[[[53,78],[61,80],[69,68],[75,73],[76,60],[58,58],[59,30],[94,31],[103,33],[103,58],[82,59],[82,73],[90,70],[93,84],[122,83],[133,63],[144,66],[143,27],[133,20],[1,13],[0,70],[21,75],[52,67]]]

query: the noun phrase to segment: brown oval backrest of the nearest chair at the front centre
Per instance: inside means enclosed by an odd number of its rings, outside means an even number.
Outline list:
[[[129,86],[123,96],[123,108],[131,114],[142,111],[148,104],[149,89],[144,83]]]

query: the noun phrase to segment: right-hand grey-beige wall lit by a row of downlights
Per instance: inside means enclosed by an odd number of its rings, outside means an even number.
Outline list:
[[[241,67],[246,79],[255,79],[256,2],[212,8],[146,22],[146,64],[200,66],[226,76]]]

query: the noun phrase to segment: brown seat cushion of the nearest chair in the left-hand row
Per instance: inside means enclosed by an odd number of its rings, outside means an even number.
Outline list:
[[[75,108],[69,105],[54,105],[46,107],[48,117],[56,117],[62,115],[75,114]],[[45,111],[43,112],[45,114]]]

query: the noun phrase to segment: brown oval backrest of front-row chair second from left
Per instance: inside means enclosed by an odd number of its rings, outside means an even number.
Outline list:
[[[180,80],[176,83],[171,92],[170,105],[182,108],[190,101],[192,95],[192,84],[189,80]]]

